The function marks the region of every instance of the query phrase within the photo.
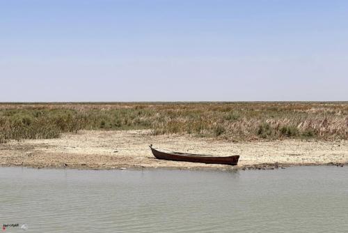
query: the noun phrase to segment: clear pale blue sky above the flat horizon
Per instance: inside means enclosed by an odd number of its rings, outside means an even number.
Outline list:
[[[0,102],[348,100],[348,1],[0,0]]]

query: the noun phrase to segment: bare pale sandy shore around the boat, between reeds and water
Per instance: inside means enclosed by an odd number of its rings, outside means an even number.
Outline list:
[[[214,156],[239,154],[239,165],[206,165],[157,160],[148,147]],[[344,165],[348,141],[283,140],[275,142],[227,142],[175,135],[151,135],[148,130],[80,131],[59,139],[11,141],[0,144],[2,166],[71,167],[86,169],[251,169],[291,165]]]

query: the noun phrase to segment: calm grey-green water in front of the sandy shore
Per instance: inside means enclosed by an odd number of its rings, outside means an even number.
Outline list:
[[[0,224],[26,223],[26,232],[347,232],[347,174],[0,167]]]

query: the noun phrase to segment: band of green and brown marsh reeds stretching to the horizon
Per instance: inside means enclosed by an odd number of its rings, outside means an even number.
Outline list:
[[[348,103],[0,104],[0,142],[86,130],[150,128],[235,141],[348,139]]]

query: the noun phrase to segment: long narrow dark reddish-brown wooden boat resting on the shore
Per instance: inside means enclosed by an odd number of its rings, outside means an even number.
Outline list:
[[[192,162],[192,163],[216,163],[216,164],[226,164],[226,165],[237,165],[239,156],[224,156],[224,157],[216,157],[216,156],[208,156],[208,155],[200,155],[193,153],[180,153],[180,152],[162,152],[157,151],[157,149],[152,148],[152,144],[150,145],[150,149],[153,155],[158,159],[164,160],[175,160],[175,161],[184,161],[184,162]]]

